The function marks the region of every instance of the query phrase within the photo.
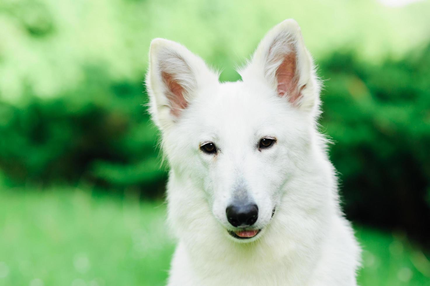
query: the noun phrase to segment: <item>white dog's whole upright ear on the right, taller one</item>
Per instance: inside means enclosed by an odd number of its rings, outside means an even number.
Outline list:
[[[264,80],[295,107],[319,105],[319,84],[300,27],[292,19],[272,28],[261,40],[251,62],[240,71],[243,81]]]

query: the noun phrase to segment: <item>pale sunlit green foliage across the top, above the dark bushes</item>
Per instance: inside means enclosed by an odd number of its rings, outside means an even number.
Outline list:
[[[375,0],[2,0],[0,98],[19,102],[26,86],[58,97],[82,83],[89,64],[101,63],[116,82],[137,82],[155,37],[183,43],[231,80],[234,65],[286,18],[300,23],[317,58],[348,46],[379,61],[429,40],[429,9],[428,1],[390,9]]]

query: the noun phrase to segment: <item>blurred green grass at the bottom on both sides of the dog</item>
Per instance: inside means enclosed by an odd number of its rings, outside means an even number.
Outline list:
[[[163,202],[88,188],[0,197],[0,285],[163,285],[174,249]],[[403,234],[357,227],[356,235],[360,285],[430,284],[428,259]]]

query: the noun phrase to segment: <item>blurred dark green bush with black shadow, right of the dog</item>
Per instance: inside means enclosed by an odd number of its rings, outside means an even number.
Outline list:
[[[419,56],[365,65],[351,54],[320,62],[322,129],[335,141],[347,215],[430,234],[430,47]]]

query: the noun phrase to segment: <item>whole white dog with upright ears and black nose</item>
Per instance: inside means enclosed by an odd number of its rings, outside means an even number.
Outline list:
[[[300,28],[261,40],[242,80],[154,39],[146,85],[170,165],[169,286],[356,285],[360,249],[318,132],[321,83]]]

